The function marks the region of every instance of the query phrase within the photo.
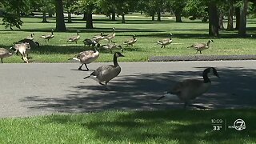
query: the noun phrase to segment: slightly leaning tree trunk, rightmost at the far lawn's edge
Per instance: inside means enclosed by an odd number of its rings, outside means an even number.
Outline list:
[[[248,10],[248,0],[242,0],[241,12],[240,12],[240,24],[238,34],[242,37],[246,36],[246,16]]]

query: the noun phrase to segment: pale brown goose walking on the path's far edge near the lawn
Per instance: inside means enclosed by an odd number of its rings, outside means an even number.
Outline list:
[[[87,67],[87,64],[94,62],[98,58],[98,56],[99,56],[99,53],[96,50],[96,48],[94,47],[94,50],[82,51],[81,53],[76,55],[75,58],[71,58],[71,59],[81,62],[82,65],[85,65],[86,69],[89,70]],[[82,70],[82,65],[79,66],[78,70]]]

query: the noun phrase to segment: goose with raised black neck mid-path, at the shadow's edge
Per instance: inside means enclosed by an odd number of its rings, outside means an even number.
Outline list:
[[[105,82],[106,86],[107,82],[110,82],[111,79],[117,77],[121,72],[121,67],[118,65],[118,57],[124,57],[124,55],[120,52],[115,52],[113,58],[114,65],[100,66],[98,69],[94,70],[90,76],[87,76],[84,79],[92,78],[98,81],[101,85],[104,85],[102,82]]]

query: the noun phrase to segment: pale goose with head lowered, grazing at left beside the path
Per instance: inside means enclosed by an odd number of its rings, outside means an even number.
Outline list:
[[[15,44],[14,47],[10,47],[16,53],[22,54],[22,59],[24,62],[28,63],[28,54],[30,52],[30,44],[27,42]]]

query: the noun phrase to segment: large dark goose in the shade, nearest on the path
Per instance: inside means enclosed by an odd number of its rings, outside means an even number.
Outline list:
[[[158,100],[162,98],[179,98],[184,102],[184,108],[189,104],[190,100],[197,98],[201,94],[206,93],[207,90],[210,89],[211,82],[210,78],[208,78],[208,73],[212,73],[215,76],[218,76],[217,70],[214,67],[206,68],[202,72],[203,80],[201,79],[187,79],[182,82],[178,82],[170,91],[167,91],[165,95],[158,98]]]

